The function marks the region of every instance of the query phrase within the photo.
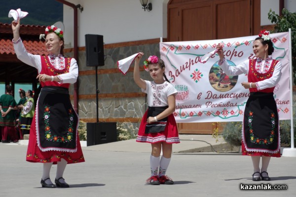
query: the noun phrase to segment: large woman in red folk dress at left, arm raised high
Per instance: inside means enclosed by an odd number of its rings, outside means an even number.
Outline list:
[[[54,26],[45,29],[45,47],[49,55],[33,55],[26,51],[19,34],[20,20],[12,22],[15,53],[22,62],[38,71],[42,86],[30,129],[27,161],[43,163],[41,186],[69,187],[63,178],[67,163],[83,162],[77,133],[78,116],[69,95],[70,83],[76,82],[78,66],[74,58],[63,56],[63,31]],[[55,183],[49,172],[57,164]]]

